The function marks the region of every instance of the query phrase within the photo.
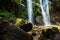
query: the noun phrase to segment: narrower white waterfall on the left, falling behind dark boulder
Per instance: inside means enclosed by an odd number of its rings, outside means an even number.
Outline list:
[[[32,0],[27,0],[28,21],[33,24]]]

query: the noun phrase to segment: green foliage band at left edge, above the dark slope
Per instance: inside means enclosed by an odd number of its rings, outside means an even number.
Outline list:
[[[16,20],[16,16],[6,10],[0,10],[0,17],[9,20],[12,23]]]

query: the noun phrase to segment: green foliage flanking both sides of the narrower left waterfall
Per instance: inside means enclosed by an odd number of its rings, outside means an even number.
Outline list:
[[[32,0],[32,1],[33,1],[33,14],[35,14],[37,11],[40,13],[39,1],[36,1],[36,0]],[[39,4],[39,5],[37,5],[37,4]],[[26,2],[26,0],[21,0],[20,11],[21,11],[20,12],[21,18],[28,19],[27,2]]]

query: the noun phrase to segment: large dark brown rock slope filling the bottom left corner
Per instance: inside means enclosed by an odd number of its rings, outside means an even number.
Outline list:
[[[33,40],[33,37],[15,25],[3,21],[0,22],[0,40]]]

